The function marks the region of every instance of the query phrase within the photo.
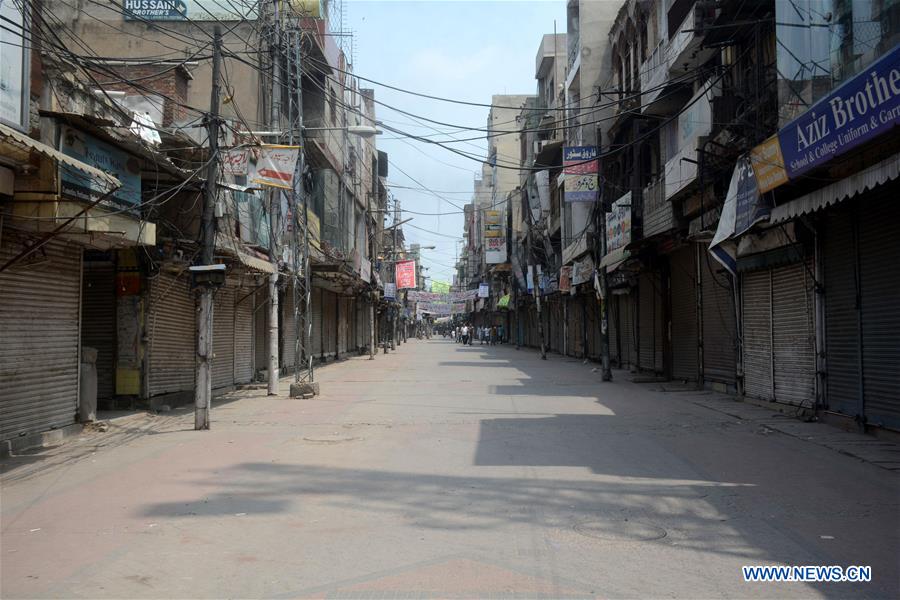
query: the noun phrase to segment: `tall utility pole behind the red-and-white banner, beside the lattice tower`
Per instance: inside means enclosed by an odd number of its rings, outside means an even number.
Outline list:
[[[272,102],[269,112],[269,131],[281,129],[281,27],[279,14],[279,1],[274,2],[274,21],[272,27],[272,41],[269,43],[269,51],[272,54]],[[271,231],[269,232],[269,260],[272,262],[274,272],[269,276],[269,365],[268,379],[270,396],[278,395],[278,238],[281,229],[281,191],[273,190],[269,193],[269,218]]]

